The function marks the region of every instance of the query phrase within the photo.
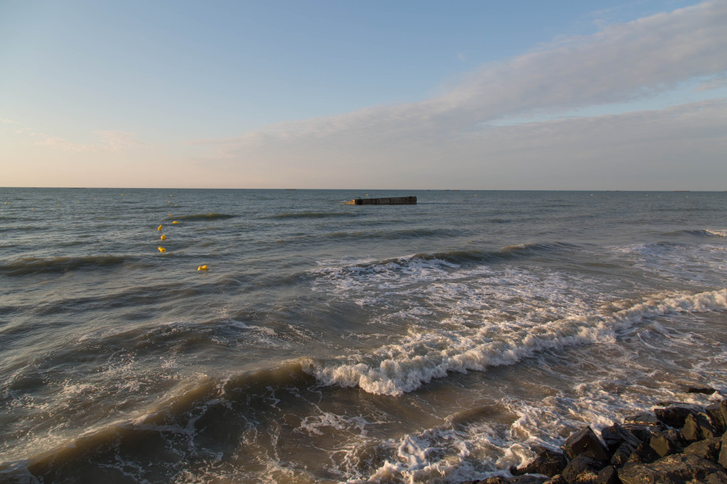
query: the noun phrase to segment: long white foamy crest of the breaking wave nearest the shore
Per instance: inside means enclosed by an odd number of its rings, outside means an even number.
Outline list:
[[[401,395],[449,371],[484,371],[512,365],[544,350],[614,342],[616,334],[645,318],[675,312],[727,309],[727,289],[699,294],[656,294],[611,315],[583,312],[557,320],[517,320],[457,331],[413,332],[372,355],[328,362],[308,360],[305,371],[321,383]]]

